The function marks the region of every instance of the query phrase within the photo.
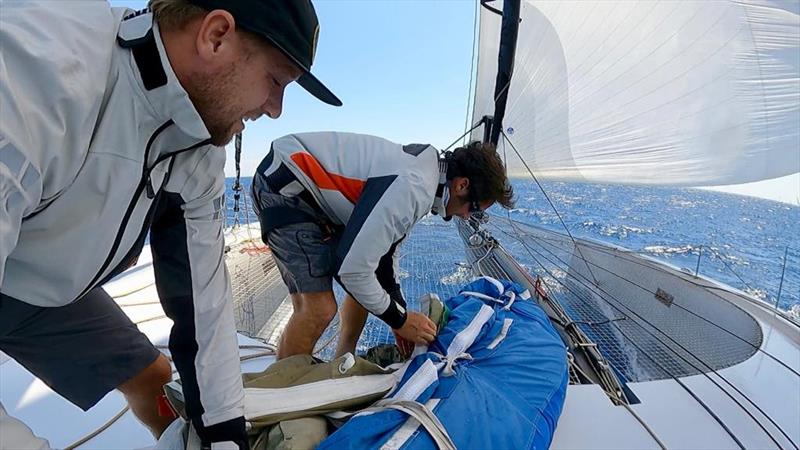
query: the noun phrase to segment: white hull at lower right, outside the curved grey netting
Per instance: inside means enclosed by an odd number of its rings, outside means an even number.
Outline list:
[[[638,255],[631,256],[645,259]],[[682,271],[664,265],[662,267],[681,278],[698,281]],[[699,281],[754,317],[764,337],[759,351],[753,356],[719,370],[718,374],[770,416],[795,445],[800,445],[800,377],[764,353],[800,372],[800,329],[763,302],[742,292],[710,280]],[[745,448],[794,448],[764,415],[720,376],[713,373],[707,375],[692,375],[680,380],[706,403]],[[628,387],[641,400],[631,408],[667,448],[738,448],[724,428],[678,382],[665,379],[629,383]],[[746,407],[776,438],[780,447],[728,394]],[[599,386],[570,385],[552,448],[644,449],[659,446],[626,409],[614,406]]]

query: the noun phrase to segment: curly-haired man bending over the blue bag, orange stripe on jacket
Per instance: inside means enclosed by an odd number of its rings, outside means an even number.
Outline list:
[[[439,186],[440,170],[446,182]],[[436,336],[424,315],[406,311],[395,251],[432,211],[469,217],[495,202],[512,205],[502,161],[475,143],[439,161],[430,145],[400,145],[349,133],[308,133],[272,143],[253,178],[262,238],[289,289],[294,313],[278,357],[310,354],[333,319],[335,278],[347,292],[336,355],[353,352],[367,313],[416,344]]]

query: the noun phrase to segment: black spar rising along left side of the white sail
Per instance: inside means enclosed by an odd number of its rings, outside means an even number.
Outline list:
[[[503,16],[500,29],[500,48],[497,56],[497,78],[494,83],[494,117],[484,118],[487,121],[487,127],[491,127],[489,142],[497,146],[500,133],[503,130],[508,90],[514,73],[514,57],[517,51],[517,35],[520,22],[520,0],[503,0],[502,12],[487,5],[489,1],[492,0],[481,0],[481,6]]]

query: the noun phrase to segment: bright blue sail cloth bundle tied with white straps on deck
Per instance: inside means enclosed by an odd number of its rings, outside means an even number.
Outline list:
[[[564,404],[566,349],[530,293],[479,278],[376,407],[319,449],[548,448]]]

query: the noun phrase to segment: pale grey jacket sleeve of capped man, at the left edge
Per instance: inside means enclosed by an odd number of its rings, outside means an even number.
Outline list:
[[[98,42],[113,40],[116,27],[103,2],[53,8],[0,1],[0,10],[2,285],[22,220],[55,198],[83,164],[111,64],[112,47]],[[87,26],[91,31],[75,32]]]

